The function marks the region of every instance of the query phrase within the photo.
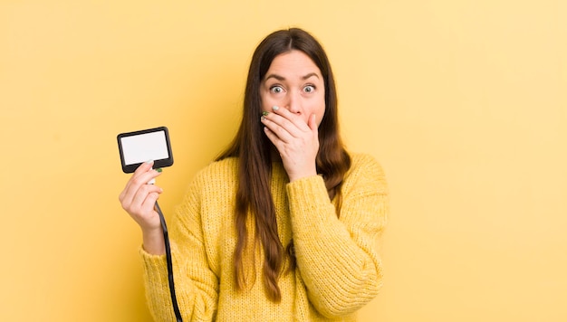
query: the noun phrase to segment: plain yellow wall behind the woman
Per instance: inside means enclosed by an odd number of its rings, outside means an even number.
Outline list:
[[[171,213],[287,26],[325,45],[344,137],[389,176],[362,320],[567,320],[565,22],[561,0],[3,1],[0,320],[149,321],[115,137],[168,126]]]

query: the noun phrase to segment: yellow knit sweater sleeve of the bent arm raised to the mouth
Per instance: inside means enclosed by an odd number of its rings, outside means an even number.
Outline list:
[[[374,242],[386,223],[388,192],[371,156],[353,158],[339,216],[321,176],[287,185],[297,266],[309,300],[325,317],[341,317],[374,298],[382,284]]]

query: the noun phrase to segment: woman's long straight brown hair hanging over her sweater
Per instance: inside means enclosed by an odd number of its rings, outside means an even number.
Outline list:
[[[234,268],[237,289],[246,286],[243,261],[248,232],[246,220],[254,216],[255,241],[264,249],[264,287],[268,298],[279,302],[282,298],[278,279],[287,256],[288,270],[295,267],[293,241],[283,249],[277,233],[274,201],[270,192],[272,173],[271,150],[274,148],[264,135],[260,123],[262,103],[260,86],[274,58],[283,52],[298,50],[307,54],[322,72],[325,85],[325,113],[319,126],[319,152],[316,159],[317,173],[325,181],[329,197],[337,197],[340,207],[342,178],[351,167],[351,158],[342,145],[337,115],[337,92],[331,65],[320,43],[302,29],[291,28],[269,34],[256,47],[248,79],[246,81],[244,112],[240,128],[229,147],[217,160],[238,157],[238,189],[235,200],[235,227],[237,242]],[[337,211],[338,215],[338,211]],[[255,256],[255,251],[246,252]]]

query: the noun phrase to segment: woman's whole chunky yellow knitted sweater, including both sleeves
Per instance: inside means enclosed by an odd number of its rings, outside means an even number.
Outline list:
[[[351,158],[339,216],[321,176],[289,183],[282,164],[273,164],[278,233],[283,247],[293,238],[297,260],[295,270],[279,279],[279,303],[264,293],[261,247],[248,265],[248,289],[235,289],[237,159],[200,171],[168,225],[183,321],[356,321],[356,311],[378,294],[382,283],[374,242],[386,223],[388,191],[373,157]],[[248,232],[254,232],[249,224]],[[175,321],[165,255],[143,249],[140,255],[152,316]]]

